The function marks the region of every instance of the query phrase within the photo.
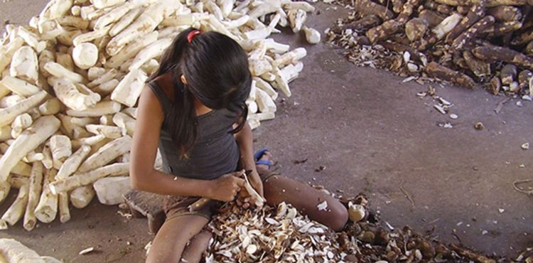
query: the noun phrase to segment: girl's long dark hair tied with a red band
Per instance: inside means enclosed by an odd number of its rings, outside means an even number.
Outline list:
[[[210,109],[228,109],[239,116],[235,119],[237,127],[231,131],[236,133],[246,122],[248,109],[244,102],[252,85],[247,55],[236,41],[210,31],[194,36],[189,43],[188,35],[193,30],[188,28],[174,38],[161,56],[159,69],[148,80],[172,75],[175,90],[166,119],[181,158],[187,156],[198,137],[193,98]]]

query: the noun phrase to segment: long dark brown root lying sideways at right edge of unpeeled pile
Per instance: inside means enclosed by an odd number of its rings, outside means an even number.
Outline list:
[[[533,69],[533,58],[519,53],[510,48],[499,46],[483,46],[474,48],[472,53],[475,57],[481,60],[488,61],[503,61],[506,63],[514,63],[520,67]]]

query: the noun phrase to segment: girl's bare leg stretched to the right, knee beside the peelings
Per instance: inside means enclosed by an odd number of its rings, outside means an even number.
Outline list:
[[[267,151],[262,160],[271,159]],[[260,176],[269,173],[268,166],[257,165]],[[278,205],[281,202],[290,203],[298,211],[317,222],[330,227],[335,231],[342,230],[348,222],[348,211],[345,206],[331,195],[308,186],[305,183],[294,181],[284,176],[271,176],[263,182],[264,198],[269,205]],[[318,210],[317,205],[326,201],[328,208]]]

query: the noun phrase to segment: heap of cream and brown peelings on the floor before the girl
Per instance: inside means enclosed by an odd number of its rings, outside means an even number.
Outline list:
[[[368,210],[364,195],[341,200],[350,215],[343,232],[333,232],[285,203],[262,210],[229,203],[209,224],[215,237],[205,262],[497,262],[409,227],[391,231]]]

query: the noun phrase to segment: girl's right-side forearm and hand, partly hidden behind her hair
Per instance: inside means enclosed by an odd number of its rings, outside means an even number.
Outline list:
[[[239,145],[240,152],[239,164],[244,170],[252,170],[252,173],[249,176],[250,183],[252,183],[252,186],[257,190],[259,195],[264,196],[263,183],[255,168],[253,138],[252,129],[248,122],[246,122],[244,127],[235,134],[235,141],[237,141],[237,145]]]

